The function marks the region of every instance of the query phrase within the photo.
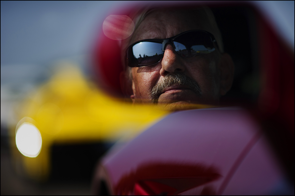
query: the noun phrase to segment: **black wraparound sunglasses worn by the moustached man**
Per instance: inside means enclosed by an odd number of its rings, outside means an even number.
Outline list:
[[[181,57],[195,57],[215,50],[214,36],[203,30],[190,30],[167,39],[143,39],[130,45],[125,60],[129,67],[155,65],[163,58],[165,46],[171,44]],[[218,48],[218,46],[217,46]]]

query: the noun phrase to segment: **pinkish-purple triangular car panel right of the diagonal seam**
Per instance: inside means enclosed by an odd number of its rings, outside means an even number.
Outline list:
[[[222,195],[282,195],[288,183],[277,157],[265,137],[261,137],[248,151]],[[293,190],[294,191],[294,190]],[[290,194],[290,193],[289,193]]]

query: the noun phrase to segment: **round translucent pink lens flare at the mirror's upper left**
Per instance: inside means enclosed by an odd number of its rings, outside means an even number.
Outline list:
[[[102,29],[106,37],[114,40],[122,40],[133,33],[134,22],[126,15],[109,15],[104,20]]]

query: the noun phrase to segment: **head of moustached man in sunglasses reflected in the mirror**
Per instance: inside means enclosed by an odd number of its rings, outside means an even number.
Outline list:
[[[121,75],[121,81],[132,88],[133,103],[159,103],[168,110],[218,105],[232,85],[234,65],[207,8],[141,12],[123,55],[127,80]]]

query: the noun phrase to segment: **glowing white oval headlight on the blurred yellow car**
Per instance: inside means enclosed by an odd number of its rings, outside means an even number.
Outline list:
[[[17,149],[26,157],[37,157],[42,147],[40,131],[31,123],[23,123],[17,129],[15,142]]]

